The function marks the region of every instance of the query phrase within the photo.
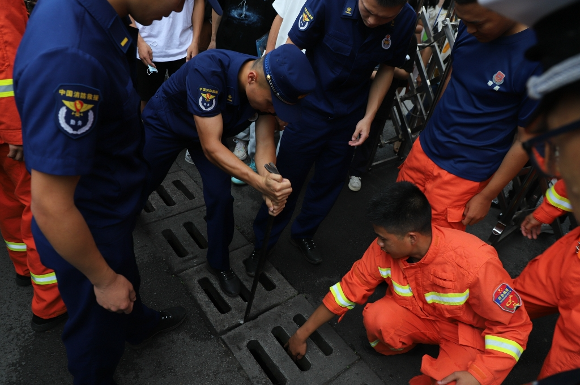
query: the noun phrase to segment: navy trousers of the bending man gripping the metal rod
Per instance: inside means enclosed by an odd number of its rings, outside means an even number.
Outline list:
[[[171,113],[170,111],[166,112],[164,109],[148,111],[144,119],[143,155],[152,171],[149,192],[153,192],[163,182],[177,155],[187,148],[203,182],[208,263],[214,269],[228,270],[230,268],[229,245],[234,237],[234,198],[231,193],[231,176],[206,158],[199,142],[180,137],[167,128],[165,114]],[[191,127],[191,130],[195,129]]]

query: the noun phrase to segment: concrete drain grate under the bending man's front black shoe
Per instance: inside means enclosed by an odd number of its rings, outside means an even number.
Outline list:
[[[246,275],[242,261],[252,250],[253,245],[248,245],[230,253],[231,267],[242,281],[239,297],[231,298],[223,294],[217,278],[207,271],[205,265],[179,274],[218,334],[239,326],[244,318],[253,278]],[[296,294],[284,277],[270,263],[266,263],[256,290],[251,317],[272,309]]]

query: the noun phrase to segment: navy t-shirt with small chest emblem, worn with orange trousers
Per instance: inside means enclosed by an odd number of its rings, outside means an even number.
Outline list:
[[[538,106],[526,82],[539,62],[524,52],[535,44],[531,29],[480,43],[460,24],[453,46],[453,72],[427,127],[425,154],[442,169],[474,182],[487,180]]]

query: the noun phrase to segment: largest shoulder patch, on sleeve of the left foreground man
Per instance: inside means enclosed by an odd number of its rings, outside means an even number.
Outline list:
[[[57,126],[67,136],[78,139],[97,124],[101,92],[82,84],[61,84],[54,91]]]

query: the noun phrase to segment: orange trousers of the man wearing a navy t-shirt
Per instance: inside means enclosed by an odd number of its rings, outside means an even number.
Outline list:
[[[460,178],[437,166],[423,151],[421,138],[413,144],[405,162],[399,167],[397,182],[411,182],[425,194],[433,212],[433,224],[465,231],[465,205],[479,194],[491,178],[474,182]]]

